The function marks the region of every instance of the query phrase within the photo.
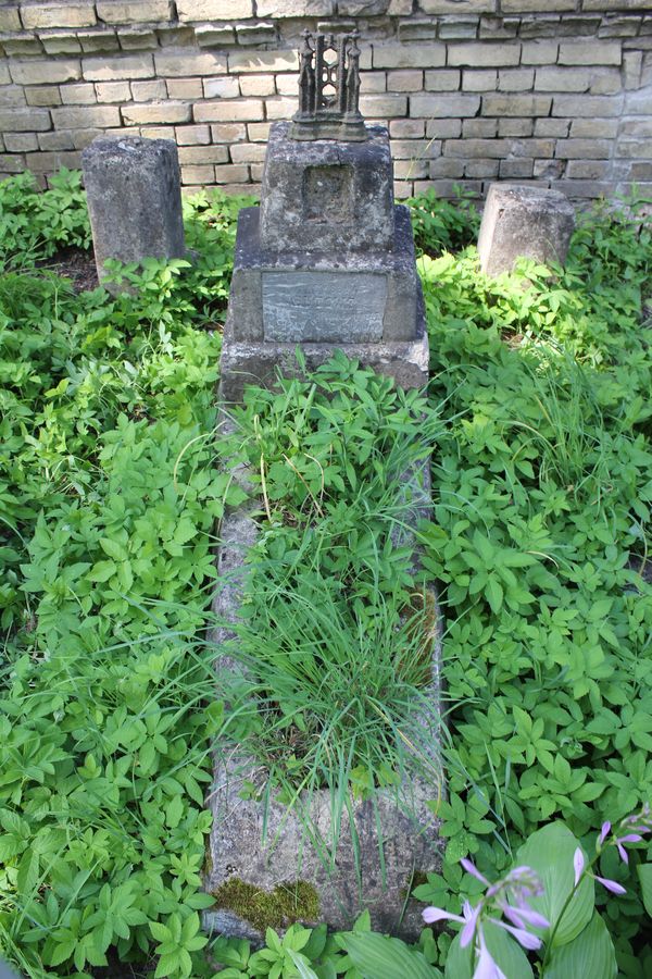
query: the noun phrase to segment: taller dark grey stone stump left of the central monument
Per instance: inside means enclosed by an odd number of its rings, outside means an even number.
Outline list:
[[[184,258],[184,221],[176,144],[139,136],[98,136],[82,153],[92,244],[102,285],[106,259]]]

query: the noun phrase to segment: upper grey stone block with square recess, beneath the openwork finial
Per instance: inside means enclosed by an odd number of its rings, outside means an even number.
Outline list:
[[[261,245],[278,251],[348,253],[391,247],[393,182],[387,129],[362,142],[269,133],[261,191]]]

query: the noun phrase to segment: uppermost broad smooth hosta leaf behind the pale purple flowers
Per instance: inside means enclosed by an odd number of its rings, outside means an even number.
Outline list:
[[[532,833],[516,854],[515,863],[531,867],[541,879],[543,896],[534,897],[530,903],[550,921],[550,929],[542,937],[547,941],[554,931],[554,945],[573,941],[593,916],[595,888],[591,877],[585,877],[564,910],[575,883],[573,857],[578,846],[579,841],[563,822],[551,822]]]

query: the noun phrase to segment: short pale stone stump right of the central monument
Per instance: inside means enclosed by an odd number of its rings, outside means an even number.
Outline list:
[[[575,210],[561,190],[491,184],[478,236],[487,275],[511,272],[519,258],[563,265],[575,228]]]

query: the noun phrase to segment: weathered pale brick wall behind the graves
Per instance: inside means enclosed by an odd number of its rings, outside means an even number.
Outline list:
[[[0,0],[0,178],[141,134],[176,140],[186,187],[258,190],[306,26],[361,30],[400,197],[652,191],[650,0]]]

